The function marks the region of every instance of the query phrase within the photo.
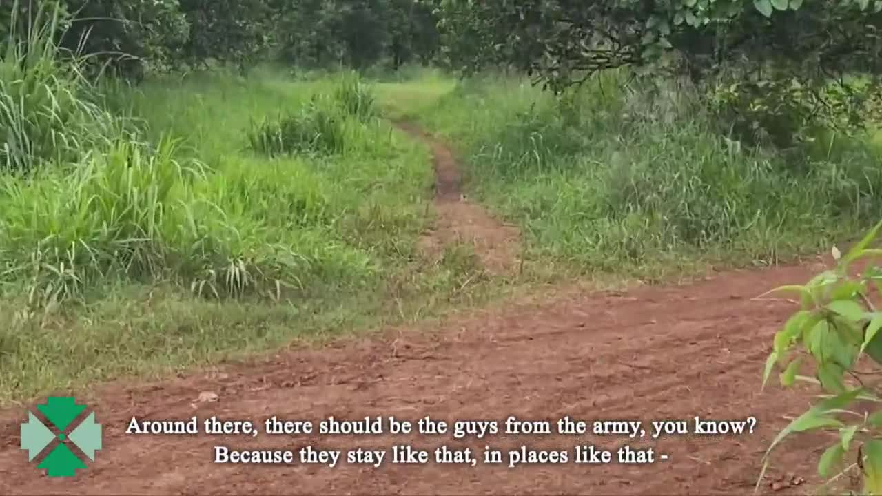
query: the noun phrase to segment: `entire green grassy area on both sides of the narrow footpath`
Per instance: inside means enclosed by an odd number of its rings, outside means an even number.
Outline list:
[[[51,54],[20,67],[0,95],[19,146],[2,158],[35,172],[0,178],[0,403],[424,319],[536,276],[774,263],[882,214],[878,138],[747,150],[685,92],[630,94],[615,74],[560,102],[439,71],[366,85],[217,70],[132,89]],[[463,246],[425,264],[429,152],[387,117],[448,139],[469,194],[521,227],[542,268],[475,282]]]

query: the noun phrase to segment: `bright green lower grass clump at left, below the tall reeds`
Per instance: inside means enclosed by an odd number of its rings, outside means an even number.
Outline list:
[[[221,297],[306,279],[310,259],[266,243],[250,222],[207,201],[204,170],[177,162],[175,146],[116,140],[72,172],[4,177],[6,287],[24,282],[35,304],[50,304],[114,281],[189,283]]]

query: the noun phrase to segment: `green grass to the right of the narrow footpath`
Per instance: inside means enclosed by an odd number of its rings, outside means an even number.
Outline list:
[[[623,81],[604,74],[559,102],[488,76],[427,102],[444,86],[431,77],[401,86],[394,104],[459,149],[472,196],[519,224],[534,258],[582,274],[771,264],[826,251],[882,215],[878,135],[822,140],[800,157],[744,149],[688,90],[651,98]]]

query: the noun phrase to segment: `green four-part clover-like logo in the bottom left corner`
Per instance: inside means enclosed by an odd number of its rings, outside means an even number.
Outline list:
[[[78,405],[71,397],[50,396],[44,404],[37,405],[37,410],[49,420],[55,431],[44,425],[33,412],[27,412],[27,423],[21,425],[21,449],[27,451],[28,462],[47,453],[37,468],[45,469],[49,477],[74,477],[77,469],[85,470],[82,455],[94,462],[95,452],[101,449],[101,424],[95,422],[95,412],[70,429],[73,421],[86,410],[86,405]],[[77,447],[81,455],[75,454],[71,445]]]

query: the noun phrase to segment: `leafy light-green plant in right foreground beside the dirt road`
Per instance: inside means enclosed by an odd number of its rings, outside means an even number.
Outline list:
[[[873,380],[882,372],[878,370],[882,364],[882,310],[878,310],[882,267],[873,261],[882,256],[882,250],[870,248],[879,229],[882,222],[845,255],[833,248],[837,260],[833,270],[818,274],[804,285],[772,291],[795,292],[802,307],[775,334],[763,385],[778,364],[782,386],[802,380],[819,386],[824,395],[772,441],[763,459],[760,480],[769,454],[781,440],[794,432],[826,430],[837,433],[838,439],[820,456],[819,475],[828,478],[834,470],[840,470],[848,452],[856,447],[855,462],[840,473],[860,470],[861,493],[882,494],[882,408],[878,406],[882,403],[882,382]],[[861,274],[850,275],[848,267],[859,259],[869,260]],[[800,375],[806,362],[813,362],[815,377]]]

